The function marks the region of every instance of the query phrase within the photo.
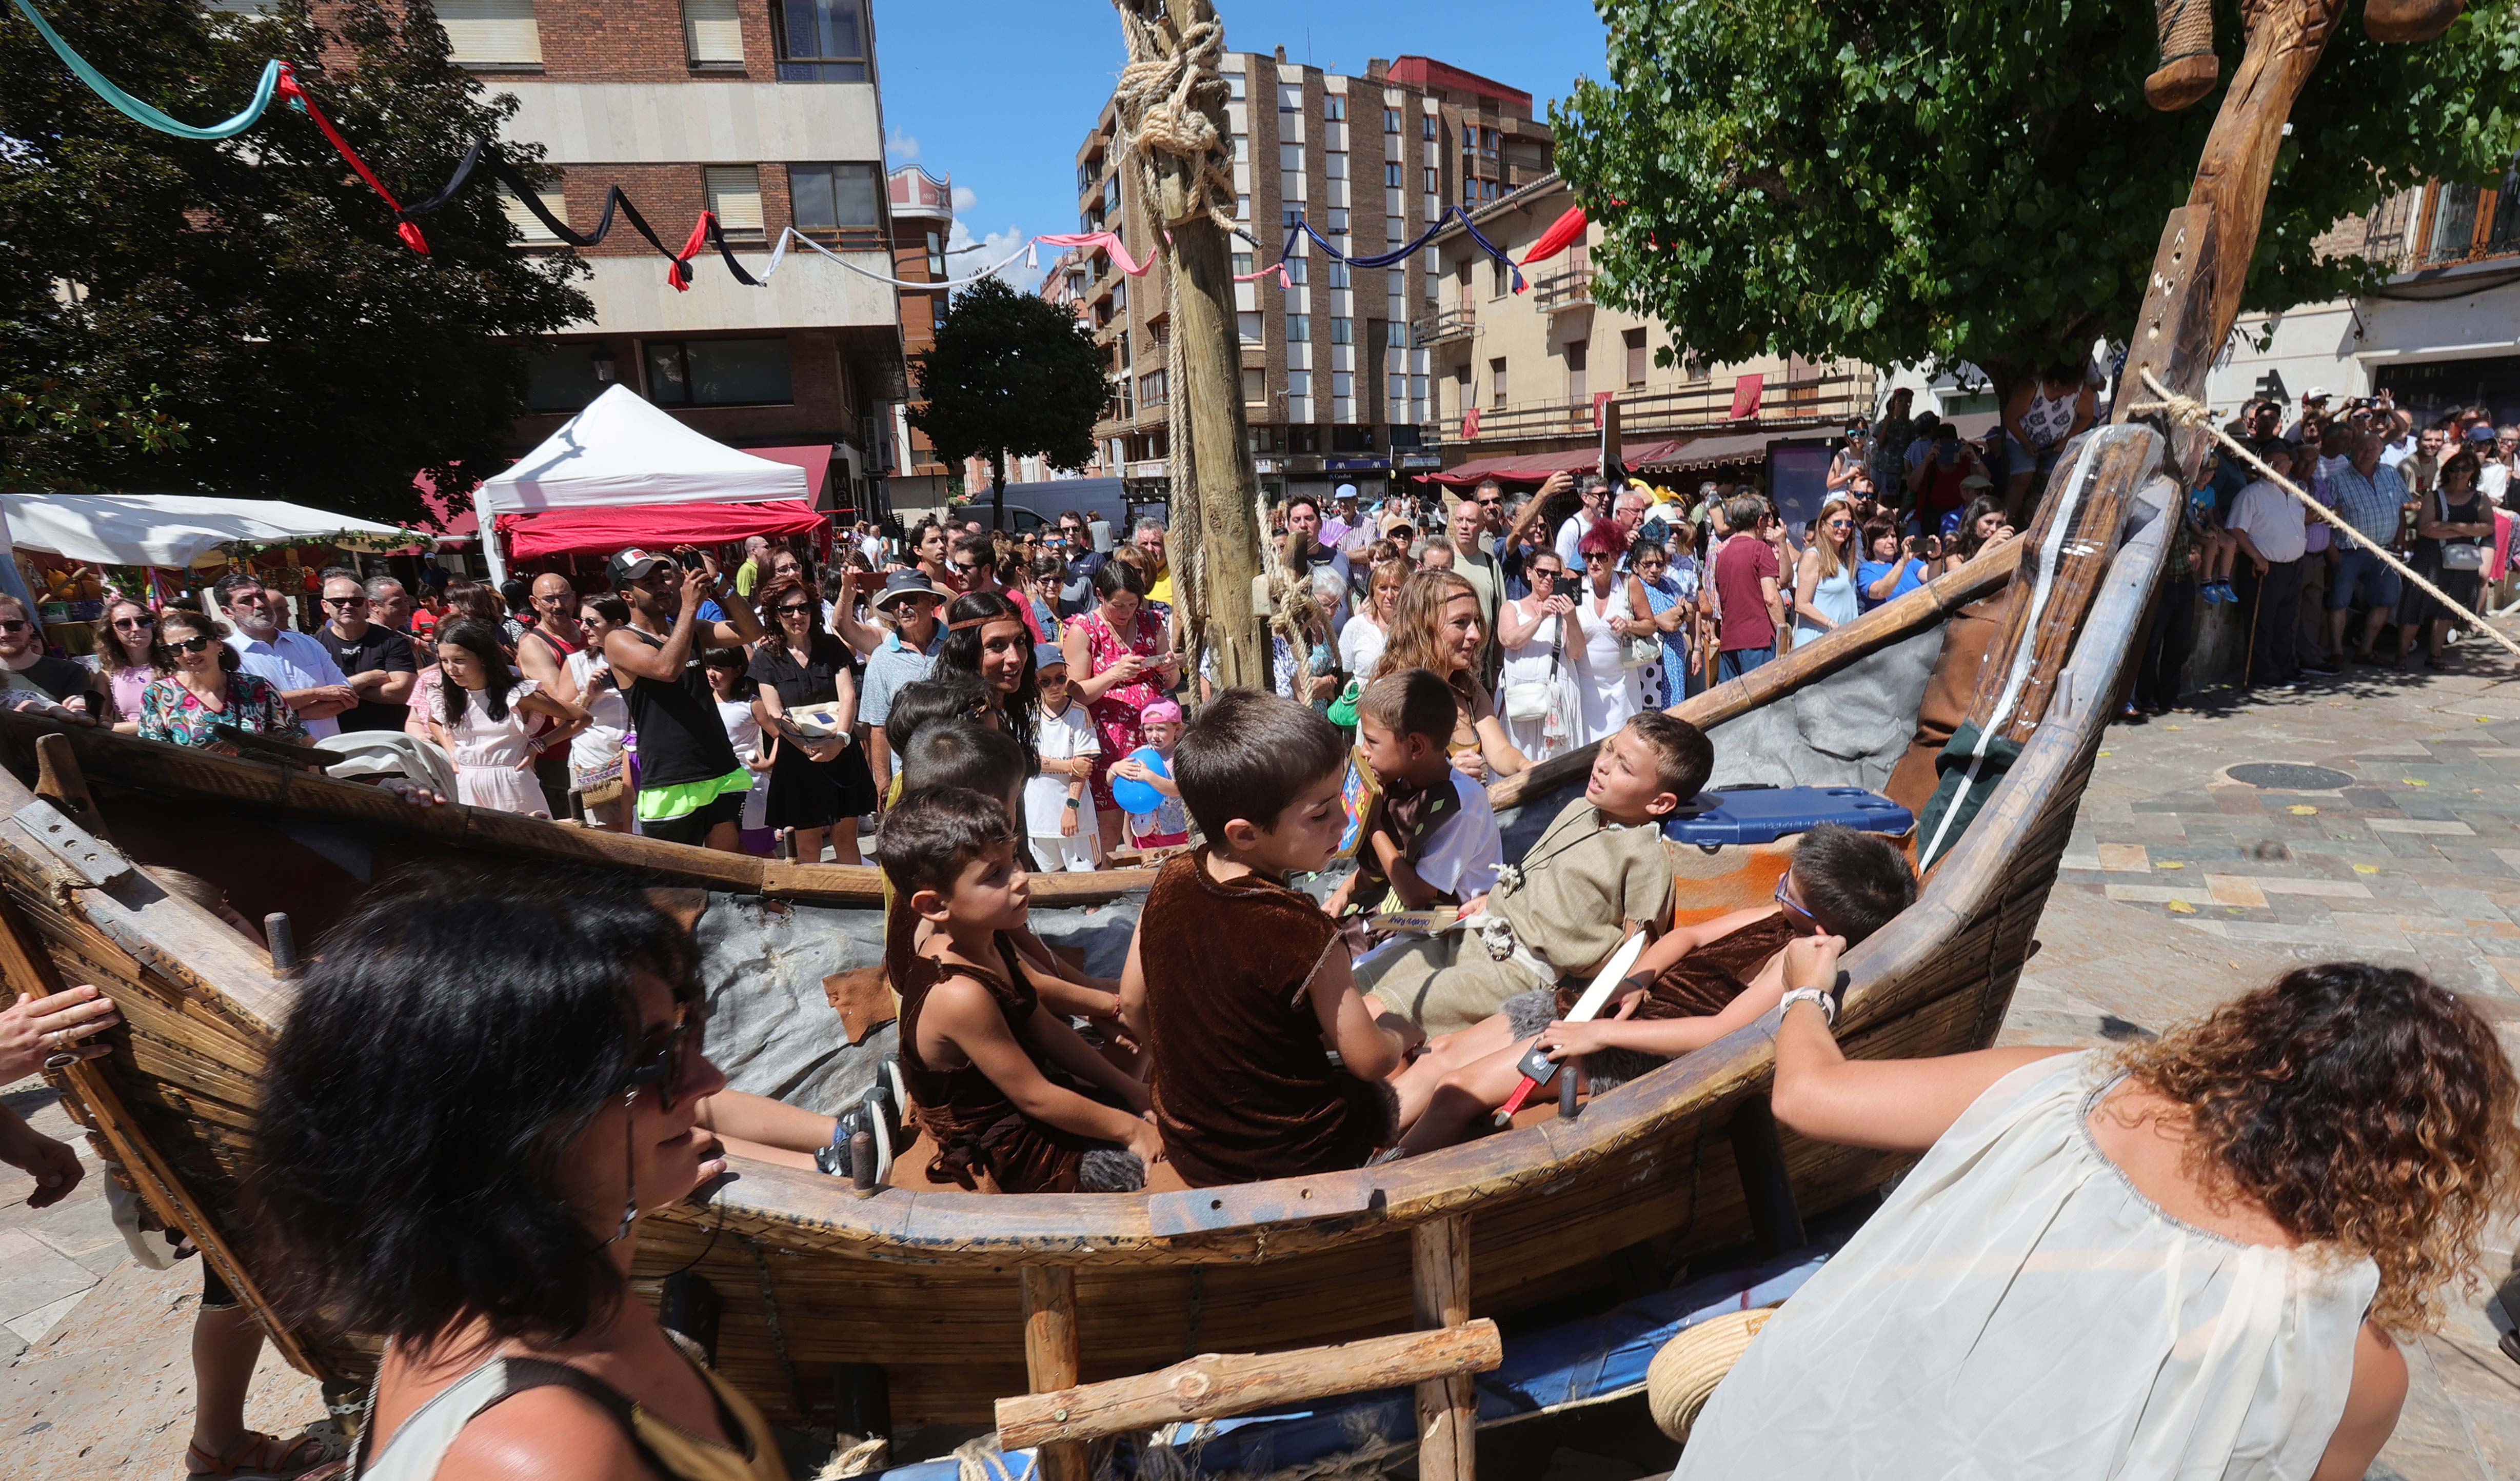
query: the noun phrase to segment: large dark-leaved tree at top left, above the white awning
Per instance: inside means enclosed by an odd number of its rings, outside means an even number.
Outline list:
[[[403,199],[433,194],[514,111],[446,60],[426,0],[307,0],[270,18],[199,0],[48,8],[129,93],[186,121],[234,113],[265,58]],[[184,489],[411,521],[413,474],[449,494],[507,463],[522,338],[587,317],[570,254],[527,257],[484,179],[423,222],[431,254],[315,123],[275,103],[242,136],[144,128],[0,18],[0,471],[13,486]],[[532,151],[507,146],[512,159]],[[156,388],[156,390],[151,390]],[[98,436],[146,408],[181,438]]]

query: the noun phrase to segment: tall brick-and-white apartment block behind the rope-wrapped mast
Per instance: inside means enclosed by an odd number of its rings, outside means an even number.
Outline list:
[[[1550,128],[1532,96],[1424,55],[1368,60],[1338,76],[1275,53],[1227,53],[1235,151],[1235,275],[1278,262],[1300,219],[1348,257],[1406,247],[1446,204],[1482,207],[1542,176]],[[1079,222],[1116,232],[1137,259],[1157,232],[1139,199],[1114,108],[1076,149]],[[1058,292],[1079,302],[1111,353],[1111,406],[1094,436],[1131,499],[1167,486],[1169,335],[1164,270],[1126,277],[1109,252],[1063,264]],[[1439,466],[1434,365],[1411,322],[1436,302],[1434,247],[1386,267],[1351,267],[1295,242],[1285,282],[1235,285],[1242,411],[1263,486],[1285,496],[1333,484],[1373,489]]]

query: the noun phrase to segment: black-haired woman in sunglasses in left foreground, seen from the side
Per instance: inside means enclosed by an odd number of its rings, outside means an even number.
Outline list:
[[[786,1478],[630,1292],[640,1222],[726,1171],[703,1023],[690,932],[605,877],[401,879],[330,932],[265,1081],[257,1269],[383,1345],[360,1476]]]

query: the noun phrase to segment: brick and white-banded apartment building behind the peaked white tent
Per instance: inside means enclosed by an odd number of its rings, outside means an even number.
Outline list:
[[[895,267],[874,20],[864,0],[436,0],[456,63],[519,103],[544,146],[542,199],[590,229],[617,184],[670,244],[713,209],[746,264],[786,227],[872,272]],[[509,201],[524,249],[559,242]],[[595,320],[534,358],[529,448],[610,383],[748,448],[829,448],[816,489],[879,509],[905,398],[895,290],[791,249],[764,287],[693,262],[688,292],[625,222],[582,249]]]

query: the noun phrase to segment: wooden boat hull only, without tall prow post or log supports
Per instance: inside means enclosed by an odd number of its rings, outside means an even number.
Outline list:
[[[2074,700],[2049,713],[1996,803],[1923,899],[1850,962],[1852,1053],[1978,1048],[2003,1018],[2031,950],[2049,882],[2099,743],[2107,695],[2160,554],[2139,534],[2066,665]],[[1787,703],[1832,672],[1938,627],[2011,577],[2008,554],[1948,574],[1678,713],[1716,725]],[[375,786],[297,766],[144,743],[30,715],[0,715],[0,967],[13,985],[98,982],[129,1030],[116,1053],[68,1070],[144,1191],[257,1292],[237,1206],[249,1159],[255,1078],[285,1020],[290,975],[272,970],[202,907],[171,897],[134,861],[174,864],[229,889],[247,914],[285,904],[300,939],[363,887],[325,866],[275,821],[345,824],[386,861],[549,859],[643,882],[789,904],[879,899],[867,869],[794,866],[592,834],[474,809],[416,809]],[[1555,811],[1585,758],[1499,783],[1517,809]],[[50,801],[48,801],[50,798]],[[1686,851],[1683,907],[1764,899],[1782,849]],[[1139,889],[1129,877],[1046,877],[1036,904],[1081,904]],[[834,1365],[872,1363],[902,1423],[985,1423],[990,1400],[1041,1380],[1026,1315],[1066,1305],[1084,1378],[1159,1368],[1202,1350],[1278,1350],[1406,1330],[1414,1232],[1467,1229],[1469,1310],[1512,1315],[1598,1287],[1620,1252],[1666,1267],[1741,1244],[1767,1219],[1830,1209],[1875,1189],[1893,1164],[1794,1136],[1764,1108],[1767,1033],[1726,1043],[1590,1103],[1441,1154],[1336,1176],[1207,1191],[980,1196],[885,1189],[741,1166],[708,1209],[653,1222],[640,1274],[698,1259],[723,1297],[721,1368],[766,1410],[829,1423]],[[1744,1181],[1736,1159],[1769,1159]],[[1774,1176],[1782,1174],[1782,1176]],[[1764,1204],[1756,1204],[1764,1199]],[[721,1227],[723,1224],[723,1227]],[[1772,1239],[1779,1229],[1767,1229]],[[1336,1292],[1336,1300],[1323,1300]],[[328,1378],[360,1355],[290,1350]],[[1038,1348],[1038,1342],[1036,1342]],[[1056,1378],[1056,1368],[1051,1373]],[[1074,1375],[1071,1375],[1074,1378]]]

